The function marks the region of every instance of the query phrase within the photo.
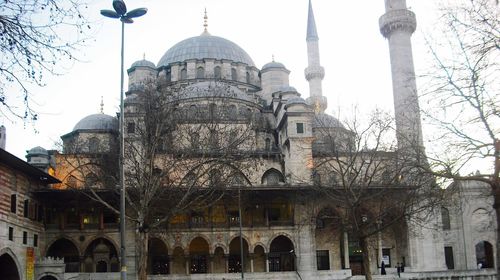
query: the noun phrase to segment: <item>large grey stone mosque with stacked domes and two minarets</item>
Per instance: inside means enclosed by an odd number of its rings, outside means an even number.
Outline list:
[[[385,7],[380,31],[389,44],[398,148],[423,146],[411,49],[416,16],[405,0],[385,0]],[[353,238],[356,232],[337,219],[335,202],[321,196],[301,199],[315,184],[338,180],[317,168],[325,156],[321,132],[341,139],[352,135],[325,113],[325,70],[311,1],[307,14],[305,99],[290,85],[284,64],[271,61],[257,68],[245,50],[210,34],[206,24],[201,35],[175,44],[157,64],[143,59],[128,69],[126,149],[143,142],[138,137],[146,118],[141,98],[148,85],[161,84],[172,90],[168,98],[175,103],[169,112],[173,119],[164,122],[168,127],[175,120],[177,126],[159,149],[171,155],[178,168],[186,157],[190,162],[207,155],[234,162],[244,157],[240,161],[245,164],[233,164],[239,171],[229,172],[228,178],[236,185],[250,185],[243,195],[224,195],[204,208],[175,213],[151,230],[149,279],[237,279],[242,272],[248,279],[346,279],[365,274],[366,255]],[[218,129],[211,128],[214,119]],[[118,166],[119,121],[103,113],[86,116],[61,136],[63,151],[35,147],[28,151],[27,163],[0,149],[0,271],[7,277],[2,279],[119,278],[118,215],[88,193],[72,190],[104,185],[102,197],[117,206],[115,185],[107,177],[118,171],[106,168]],[[246,136],[238,141],[241,134]],[[100,173],[87,167],[97,162]],[[133,162],[124,163],[124,174],[130,176]],[[167,161],[156,164],[154,172],[174,166]],[[228,171],[221,170],[204,169],[206,174],[199,178],[207,185],[229,184],[222,179]],[[190,173],[183,176],[186,181],[192,178]],[[391,277],[401,266],[402,276],[414,279],[496,275],[492,199],[482,195],[487,187],[462,182],[449,189],[457,191],[449,205],[435,212],[433,227],[415,231],[411,225],[398,225],[371,237],[372,274],[380,274],[384,261]],[[127,228],[127,273],[135,279],[139,231],[132,223]]]

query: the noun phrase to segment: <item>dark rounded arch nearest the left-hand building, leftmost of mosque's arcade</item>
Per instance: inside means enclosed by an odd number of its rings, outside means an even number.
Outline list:
[[[72,240],[66,237],[52,242],[47,248],[46,256],[64,259],[66,272],[80,272],[80,250]]]

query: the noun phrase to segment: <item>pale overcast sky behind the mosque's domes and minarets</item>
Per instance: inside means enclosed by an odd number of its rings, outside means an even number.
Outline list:
[[[119,111],[120,24],[99,15],[112,9],[111,0],[95,0],[88,12],[95,21],[96,36],[82,50],[79,62],[64,76],[46,80],[44,88],[34,89],[40,119],[33,127],[19,120],[0,116],[7,128],[6,150],[25,159],[26,150],[35,146],[56,148],[63,134],[87,115],[100,111]],[[433,0],[408,0],[417,15],[413,36],[417,71],[426,46],[422,35],[434,22]],[[127,0],[129,9],[146,7],[148,13],[125,30],[125,66],[146,59],[155,64],[174,44],[200,35],[203,11],[208,12],[208,30],[242,47],[260,69],[275,60],[290,71],[290,85],[309,96],[304,68],[307,66],[306,23],[308,0]],[[392,86],[387,41],[378,28],[384,13],[383,0],[313,0],[319,34],[321,65],[325,68],[323,94],[328,97],[327,112],[348,114],[353,106],[368,111],[374,106],[392,110]],[[36,131],[35,131],[36,130]],[[425,134],[425,131],[424,131]]]

